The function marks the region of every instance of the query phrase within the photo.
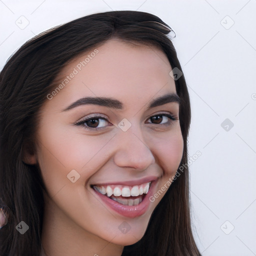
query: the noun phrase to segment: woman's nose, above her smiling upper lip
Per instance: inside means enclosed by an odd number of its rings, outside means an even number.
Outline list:
[[[136,170],[145,170],[155,162],[149,146],[143,139],[141,132],[119,131],[116,137],[117,148],[114,154],[114,162],[120,167],[132,167]]]

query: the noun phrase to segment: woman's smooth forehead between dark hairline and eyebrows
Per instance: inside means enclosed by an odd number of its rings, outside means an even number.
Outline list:
[[[54,85],[62,83],[63,88],[54,100],[111,96],[135,103],[156,94],[175,93],[171,69],[166,55],[155,46],[111,39],[79,55],[60,71]]]

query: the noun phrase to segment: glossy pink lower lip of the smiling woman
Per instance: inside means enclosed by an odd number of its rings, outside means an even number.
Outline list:
[[[99,193],[98,191],[92,190],[97,194],[97,196],[111,209],[118,212],[119,214],[125,216],[125,217],[138,217],[144,214],[149,206],[149,197],[153,194],[153,190],[155,187],[156,180],[151,182],[151,185],[149,187],[148,193],[144,196],[144,199],[137,205],[124,205],[117,201],[114,201],[107,197],[106,195],[103,195]]]

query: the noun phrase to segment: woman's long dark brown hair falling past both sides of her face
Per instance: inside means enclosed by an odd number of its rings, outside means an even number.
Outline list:
[[[33,37],[8,59],[0,72],[0,207],[8,217],[0,229],[1,256],[38,256],[41,249],[45,186],[39,166],[25,164],[22,157],[24,148],[33,146],[40,107],[59,71],[72,58],[111,38],[157,46],[171,67],[181,71],[170,31],[159,17],[146,12],[95,13]],[[190,103],[183,75],[175,86],[184,141],[180,166],[187,166]],[[154,209],[144,236],[124,246],[122,256],[200,255],[191,231],[188,181],[185,168]],[[15,229],[21,220],[29,226],[23,235]]]

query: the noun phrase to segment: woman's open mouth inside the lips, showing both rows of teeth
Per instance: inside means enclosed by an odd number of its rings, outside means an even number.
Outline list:
[[[151,186],[151,181],[140,185],[91,185],[91,187],[107,196],[108,198],[123,204],[123,205],[137,205],[141,203],[148,193]]]

